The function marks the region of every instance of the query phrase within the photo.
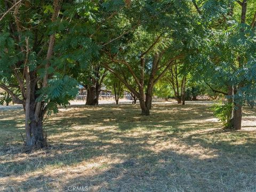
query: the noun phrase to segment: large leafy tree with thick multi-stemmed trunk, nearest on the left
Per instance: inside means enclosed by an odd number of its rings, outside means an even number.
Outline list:
[[[23,105],[26,146],[46,146],[45,114],[57,112],[77,94],[76,81],[65,75],[60,54],[54,49],[61,20],[61,0],[2,1],[0,23],[0,87],[12,101]],[[44,7],[44,8],[42,8]],[[12,11],[9,11],[12,10]]]

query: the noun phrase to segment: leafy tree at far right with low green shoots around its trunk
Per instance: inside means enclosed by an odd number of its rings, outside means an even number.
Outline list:
[[[215,79],[214,84],[218,84],[220,91],[226,90],[223,94],[233,106],[227,115],[227,128],[239,130],[245,101],[255,101],[255,3],[248,4],[246,0],[212,2],[215,2],[215,18],[211,22],[201,21],[205,23],[208,35],[194,61],[200,60],[198,69],[204,71],[205,76]],[[202,18],[212,12],[209,4],[198,7],[204,9]]]

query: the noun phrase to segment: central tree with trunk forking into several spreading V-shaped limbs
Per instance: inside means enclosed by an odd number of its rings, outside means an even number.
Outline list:
[[[176,60],[185,57],[190,46],[194,24],[188,14],[190,5],[186,1],[145,1],[139,7],[131,3],[123,12],[127,21],[119,21],[123,25],[116,29],[122,35],[130,28],[131,33],[103,50],[109,59],[103,66],[139,99],[142,115],[149,115],[154,85]],[[138,91],[127,81],[127,73],[132,75]]]

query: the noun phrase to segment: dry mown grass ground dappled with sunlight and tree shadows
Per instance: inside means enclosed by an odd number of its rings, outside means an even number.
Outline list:
[[[46,120],[50,147],[30,154],[22,109],[0,109],[0,191],[256,191],[255,110],[224,132],[209,107],[155,104],[146,117],[138,105],[72,106]]]

